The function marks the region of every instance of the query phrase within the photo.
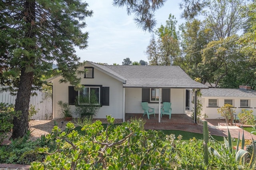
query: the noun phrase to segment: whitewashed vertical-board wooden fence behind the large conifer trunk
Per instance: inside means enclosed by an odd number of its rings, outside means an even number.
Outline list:
[[[30,97],[30,104],[39,109],[36,115],[32,116],[32,120],[51,120],[52,119],[52,96],[36,91],[37,96]],[[9,92],[0,92],[0,103],[15,104],[16,96],[10,95]]]

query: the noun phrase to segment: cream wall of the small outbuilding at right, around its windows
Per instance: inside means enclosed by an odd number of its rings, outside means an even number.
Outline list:
[[[208,107],[208,100],[209,99],[217,99],[217,106],[218,107]],[[253,114],[256,115],[256,99],[255,98],[238,98],[238,97],[203,97],[202,100],[202,115],[206,114],[208,116],[207,119],[217,119],[219,117],[222,117],[217,109],[224,106],[224,100],[230,99],[233,100],[233,106],[235,107],[235,113],[238,115],[238,113],[241,113],[242,109],[248,109],[252,110]],[[239,108],[240,107],[240,100],[250,100],[250,107],[249,108]]]

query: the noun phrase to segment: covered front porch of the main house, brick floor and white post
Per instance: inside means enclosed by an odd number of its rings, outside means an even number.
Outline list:
[[[146,124],[194,125],[196,120],[192,119],[191,115],[195,113],[190,112],[190,116],[186,115],[186,102],[192,101],[191,96],[186,95],[187,91],[186,88],[123,88],[123,121],[131,117],[141,117],[146,120]],[[156,101],[152,101],[153,97]],[[150,108],[154,108],[156,117],[154,115],[150,115],[150,119],[147,115],[143,117],[142,102],[147,102]],[[163,115],[161,118],[158,114],[161,112],[163,102],[171,103],[171,119],[168,115]]]

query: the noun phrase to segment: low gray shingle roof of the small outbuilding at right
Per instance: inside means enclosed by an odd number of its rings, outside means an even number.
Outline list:
[[[202,89],[202,97],[246,97],[255,98],[256,91],[232,88],[209,88]]]

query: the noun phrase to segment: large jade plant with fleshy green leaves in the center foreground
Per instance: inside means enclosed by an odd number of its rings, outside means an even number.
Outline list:
[[[57,149],[41,148],[48,153],[44,162],[32,163],[32,169],[166,169],[172,166],[172,147],[163,143],[164,135],[156,131],[144,131],[138,124],[142,121],[124,122],[114,126],[114,118],[108,116],[108,126],[100,121],[84,125],[80,135],[74,124],[68,123],[66,131],[54,127],[47,139],[56,142]],[[172,145],[172,137],[168,137]],[[58,159],[56,159],[58,158]],[[179,166],[179,165],[177,165]]]

